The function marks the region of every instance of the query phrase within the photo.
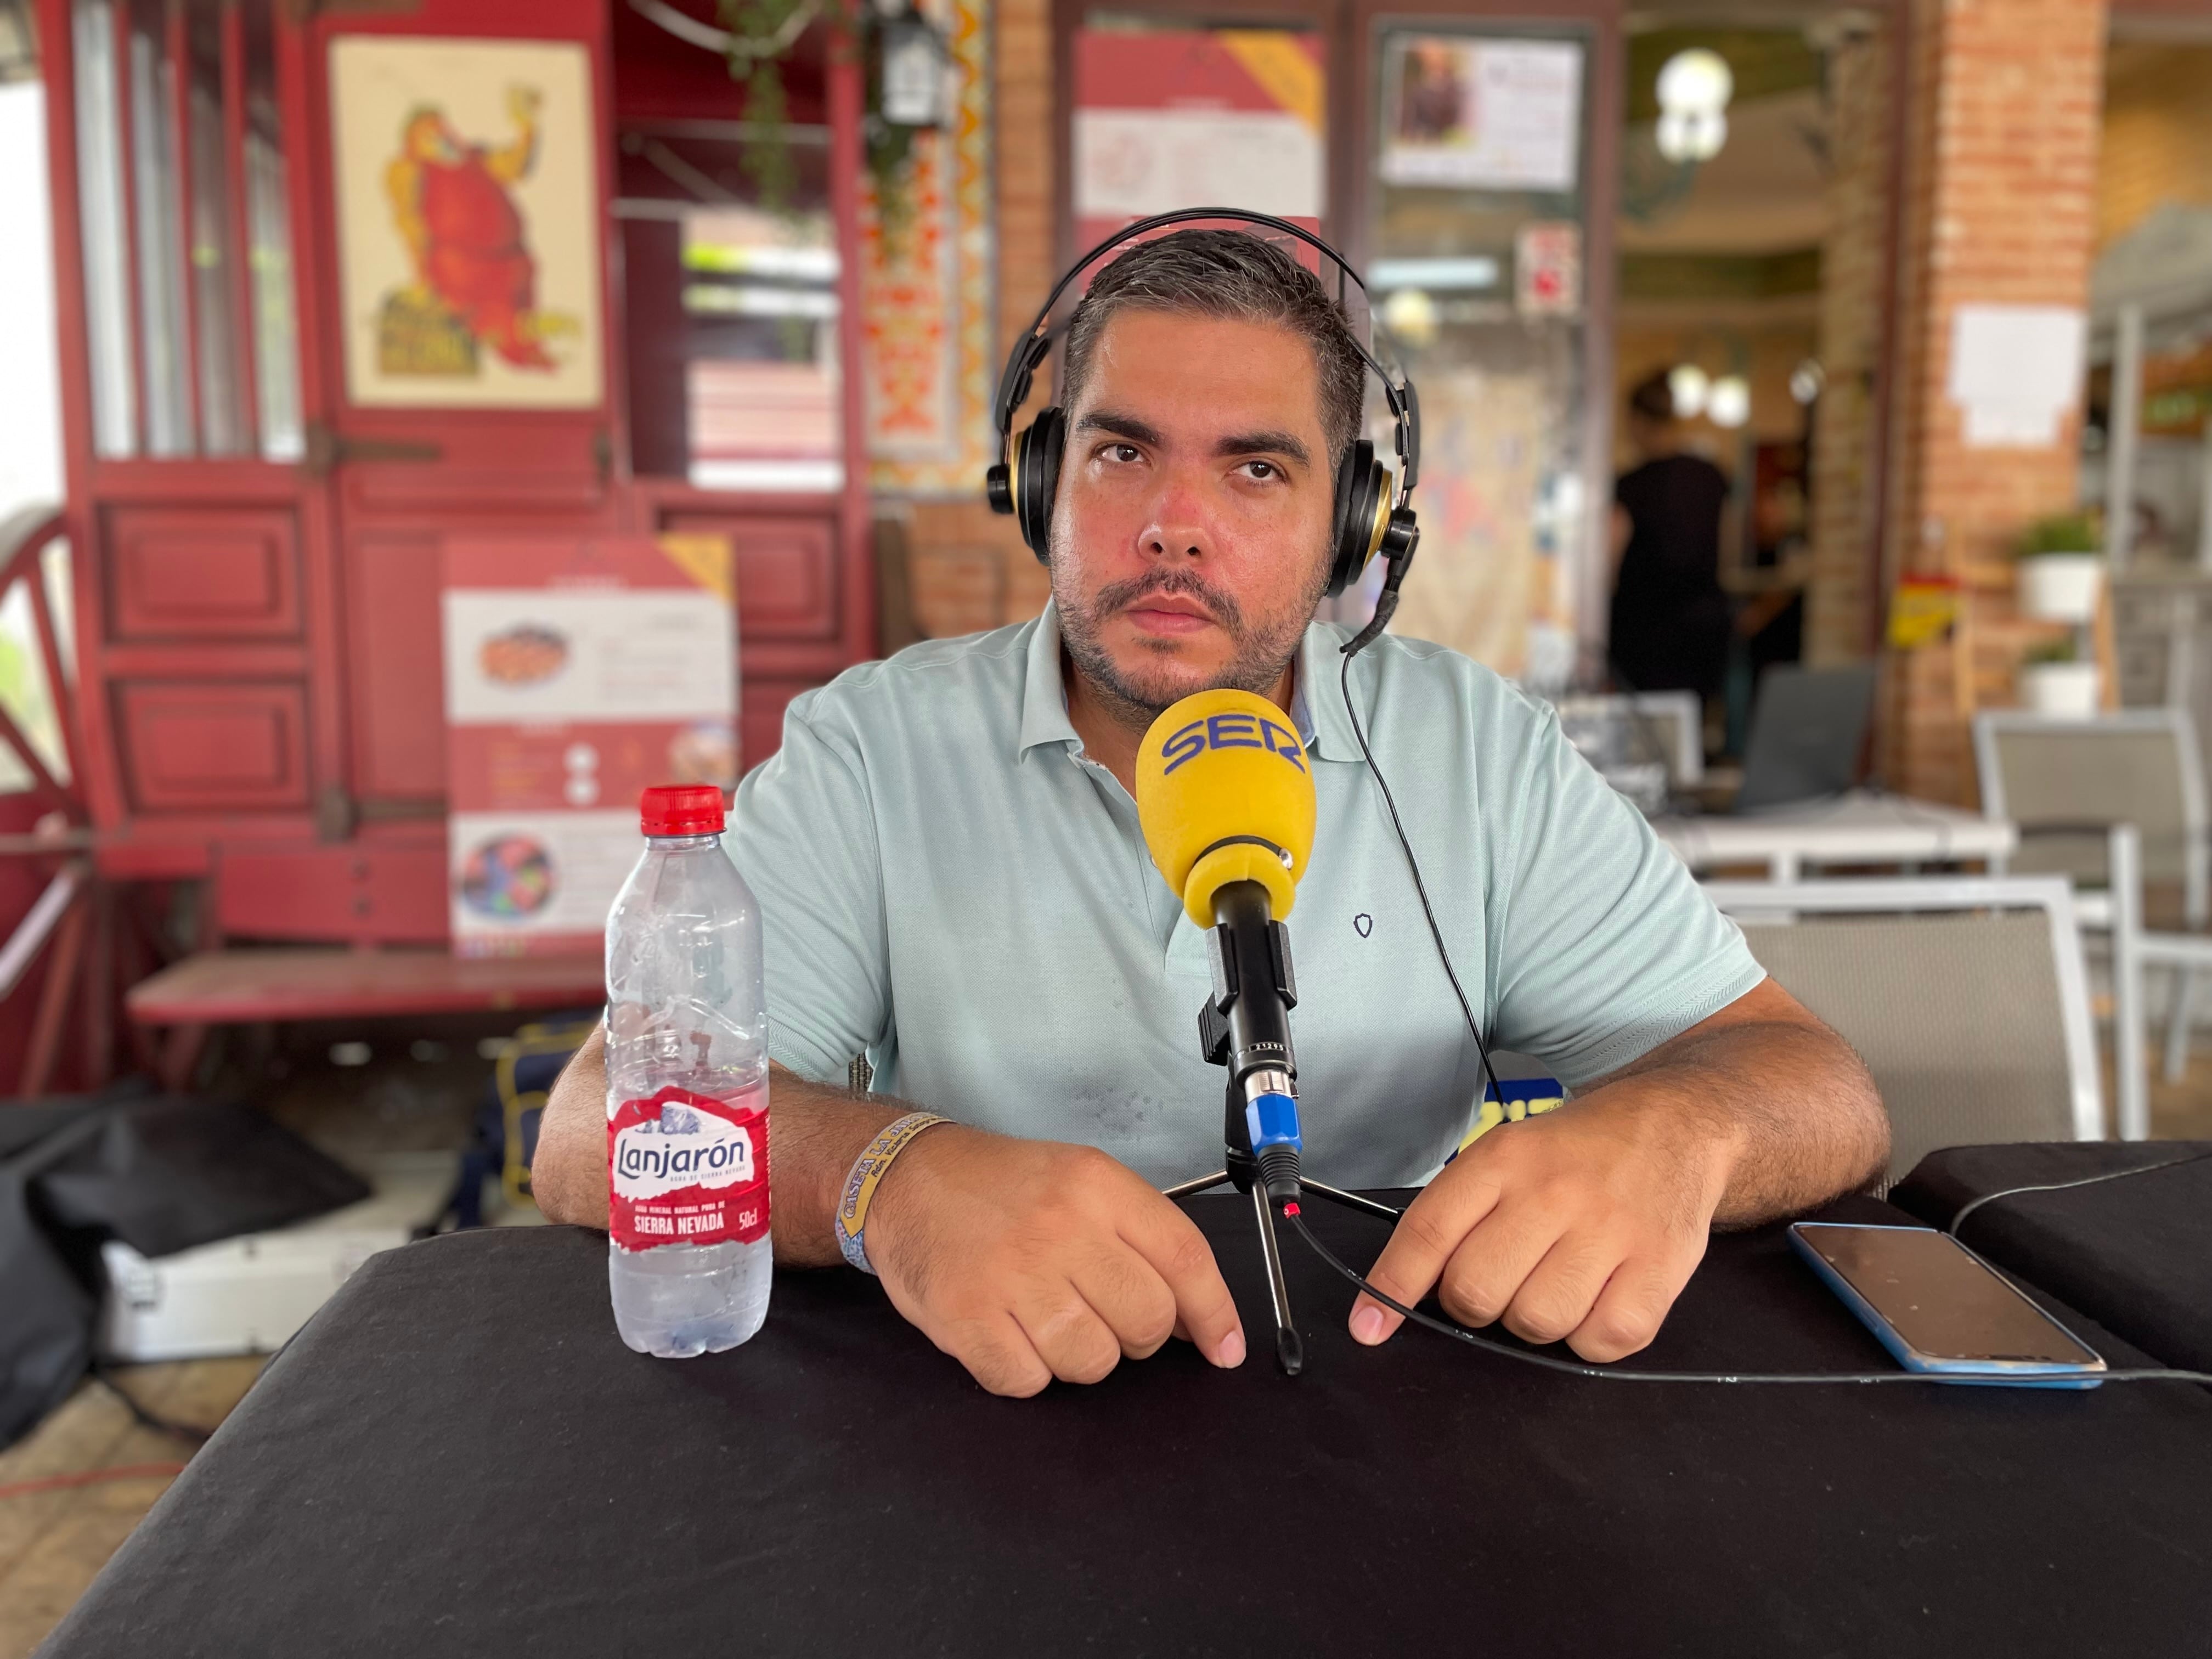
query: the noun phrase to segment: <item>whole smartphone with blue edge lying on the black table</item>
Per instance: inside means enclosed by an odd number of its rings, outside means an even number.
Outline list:
[[[1949,1232],[1798,1221],[1790,1243],[1907,1371],[2026,1389],[2104,1380],[2088,1343]]]

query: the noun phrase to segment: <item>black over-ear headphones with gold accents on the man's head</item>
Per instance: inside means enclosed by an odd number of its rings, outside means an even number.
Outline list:
[[[1053,338],[1057,334],[1053,330],[1053,307],[1077,276],[1115,248],[1164,226],[1219,219],[1265,226],[1283,237],[1303,241],[1327,259],[1338,272],[1338,307],[1345,299],[1347,279],[1358,285],[1360,294],[1367,292],[1367,283],[1360,281],[1360,274],[1352,270],[1345,257],[1312,230],[1303,230],[1290,223],[1290,219],[1276,219],[1267,212],[1243,212],[1241,208],[1183,208],[1179,212],[1137,219],[1077,259],[1053,283],[1053,292],[1044,296],[1035,321],[1015,341],[1013,352],[1006,356],[1006,369],[998,376],[998,398],[991,405],[991,418],[998,427],[998,465],[984,473],[984,493],[991,498],[993,513],[1013,513],[1022,526],[1022,540],[1037,555],[1040,564],[1048,564],[1053,551],[1053,498],[1060,493],[1060,462],[1066,453],[1068,418],[1060,405],[1053,405],[1015,434],[1013,411],[1029,398],[1029,387],[1037,369],[1053,354]],[[1376,380],[1383,383],[1383,398],[1396,425],[1398,476],[1394,489],[1391,469],[1383,465],[1367,438],[1358,438],[1336,458],[1336,513],[1329,524],[1327,591],[1336,595],[1349,588],[1358,582],[1360,571],[1367,568],[1367,560],[1380,553],[1389,564],[1385,582],[1385,591],[1389,593],[1387,615],[1389,608],[1396,608],[1398,584],[1413,562],[1413,549],[1420,546],[1420,522],[1413,518],[1411,507],[1413,482],[1420,478],[1420,398],[1413,394],[1413,383],[1402,374],[1394,380],[1367,345],[1358,338],[1352,345],[1360,354],[1360,361],[1374,369]]]

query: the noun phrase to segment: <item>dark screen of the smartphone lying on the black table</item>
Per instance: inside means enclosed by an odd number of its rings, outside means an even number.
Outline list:
[[[1798,1237],[1920,1354],[1947,1360],[2097,1363],[2095,1352],[1944,1232],[1805,1225]]]

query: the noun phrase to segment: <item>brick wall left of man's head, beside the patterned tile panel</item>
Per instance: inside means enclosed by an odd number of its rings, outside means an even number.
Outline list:
[[[1006,343],[1044,303],[1060,274],[1053,237],[1053,9],[1051,0],[995,0],[993,97],[998,100],[998,327],[993,376]],[[1040,380],[1031,411],[1051,385]],[[1015,422],[1020,427],[1020,422]],[[942,639],[1031,617],[1051,593],[1044,566],[1011,518],[975,495],[916,502],[907,520],[914,622]]]

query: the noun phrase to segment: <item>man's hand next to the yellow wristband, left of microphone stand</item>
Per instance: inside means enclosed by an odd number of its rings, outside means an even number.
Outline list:
[[[891,1305],[991,1394],[1097,1383],[1170,1336],[1221,1367],[1245,1356],[1206,1237],[1088,1146],[931,1128],[876,1188],[867,1259]]]

